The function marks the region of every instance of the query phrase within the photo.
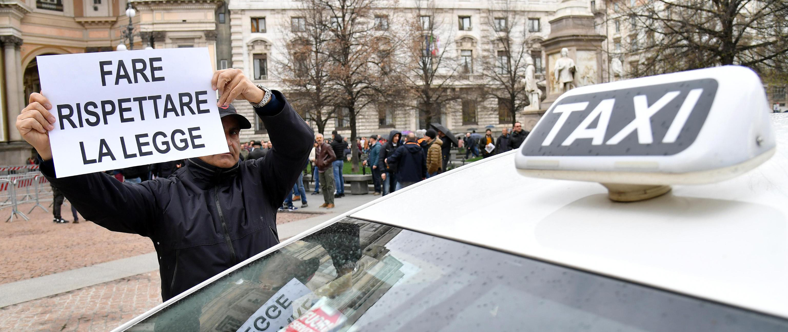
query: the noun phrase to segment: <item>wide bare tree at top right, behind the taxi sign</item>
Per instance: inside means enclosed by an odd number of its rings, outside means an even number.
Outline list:
[[[654,0],[620,3],[608,20],[626,29],[629,76],[743,65],[785,72],[788,0]],[[620,45],[620,44],[619,44]]]

